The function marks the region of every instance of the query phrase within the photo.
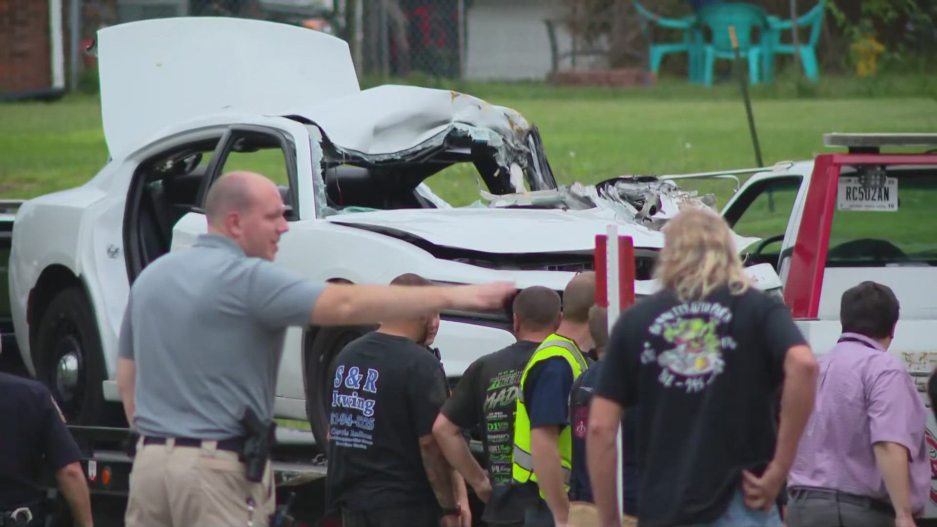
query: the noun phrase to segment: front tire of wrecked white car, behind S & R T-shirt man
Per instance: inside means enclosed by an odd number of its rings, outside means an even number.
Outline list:
[[[342,325],[320,327],[305,345],[305,414],[309,427],[326,453],[329,430],[329,401],[332,394],[332,362],[350,341],[377,329],[377,325]]]

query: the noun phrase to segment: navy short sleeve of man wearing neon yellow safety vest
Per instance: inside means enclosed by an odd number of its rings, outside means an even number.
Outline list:
[[[573,369],[565,358],[550,357],[533,366],[525,384],[530,428],[569,424]]]

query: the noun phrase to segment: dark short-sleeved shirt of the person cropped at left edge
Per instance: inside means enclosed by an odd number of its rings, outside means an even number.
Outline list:
[[[82,459],[65,417],[43,384],[0,373],[0,510],[42,499],[43,469],[57,471]]]

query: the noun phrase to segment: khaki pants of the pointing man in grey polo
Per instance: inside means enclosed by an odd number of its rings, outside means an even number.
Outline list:
[[[273,473],[260,483],[245,477],[244,463],[216,442],[201,447],[137,443],[130,473],[127,527],[245,525],[266,527],[275,507]]]

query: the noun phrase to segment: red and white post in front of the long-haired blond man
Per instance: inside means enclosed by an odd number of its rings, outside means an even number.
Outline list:
[[[608,330],[621,311],[634,303],[634,244],[631,236],[619,236],[617,225],[609,225],[605,234],[595,236],[595,303],[608,309]],[[621,427],[617,438],[618,510],[624,509],[624,474],[621,468]]]

